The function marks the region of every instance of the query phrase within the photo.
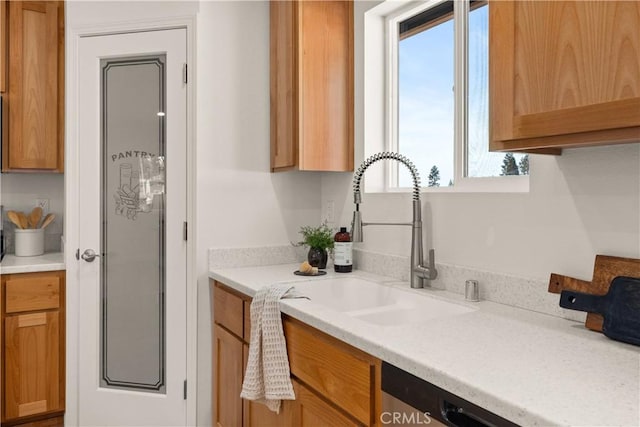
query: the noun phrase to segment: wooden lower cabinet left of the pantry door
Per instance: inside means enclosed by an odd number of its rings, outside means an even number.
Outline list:
[[[3,426],[62,424],[64,278],[62,271],[2,276]]]

